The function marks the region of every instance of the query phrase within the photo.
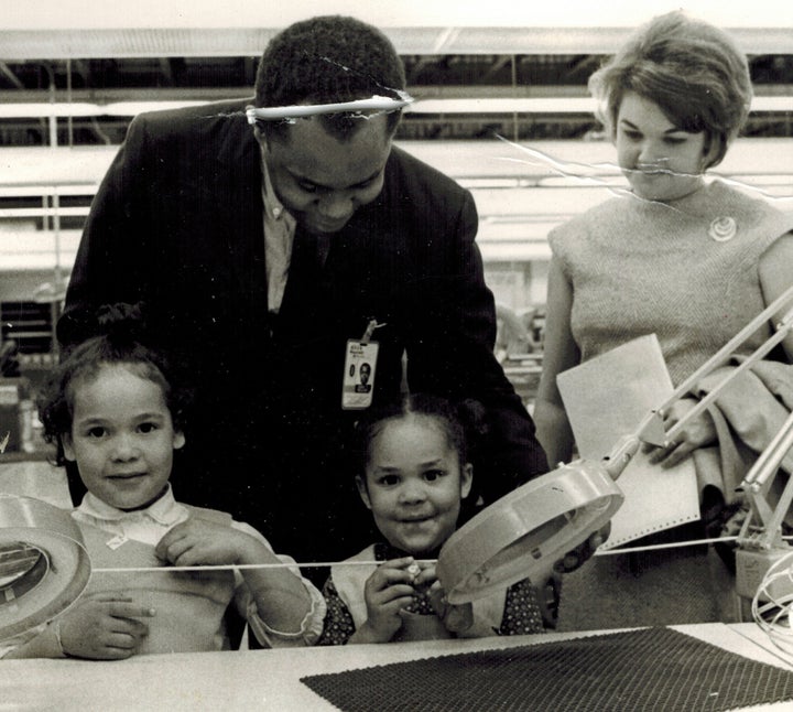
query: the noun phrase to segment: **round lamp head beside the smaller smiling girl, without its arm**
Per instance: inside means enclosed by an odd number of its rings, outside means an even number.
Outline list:
[[[467,603],[523,579],[541,583],[554,562],[611,519],[623,499],[604,465],[586,460],[518,487],[441,549],[436,571],[449,603]]]

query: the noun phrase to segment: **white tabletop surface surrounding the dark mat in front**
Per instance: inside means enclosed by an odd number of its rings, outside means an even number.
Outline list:
[[[793,671],[753,623],[673,626],[711,645]],[[551,643],[585,634],[323,648],[151,655],[115,662],[4,660],[0,710],[333,710],[300,680],[419,658]],[[747,708],[793,709],[793,703]]]

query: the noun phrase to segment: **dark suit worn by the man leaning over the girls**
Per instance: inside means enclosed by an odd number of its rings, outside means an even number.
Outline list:
[[[230,511],[298,561],[361,546],[369,513],[343,443],[346,342],[371,319],[380,344],[374,402],[413,391],[479,400],[490,434],[475,483],[492,501],[545,472],[520,399],[492,355],[495,311],[467,191],[394,148],[384,187],[330,237],[324,266],[295,235],[278,316],[269,314],[259,145],[242,103],[141,115],[87,220],[58,325],[143,300],[152,333],[197,385],[180,499]],[[368,529],[368,526],[367,526]],[[351,541],[348,541],[350,540]]]

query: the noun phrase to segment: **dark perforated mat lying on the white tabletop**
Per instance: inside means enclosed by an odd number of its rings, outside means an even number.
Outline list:
[[[345,712],[715,712],[793,700],[793,672],[671,628],[425,658],[302,682]]]

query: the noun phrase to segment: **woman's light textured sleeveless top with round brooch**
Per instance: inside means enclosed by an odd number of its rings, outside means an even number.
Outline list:
[[[669,203],[626,194],[558,226],[548,242],[572,284],[582,362],[655,333],[680,384],[765,308],[760,257],[791,229],[793,214],[718,180]]]

